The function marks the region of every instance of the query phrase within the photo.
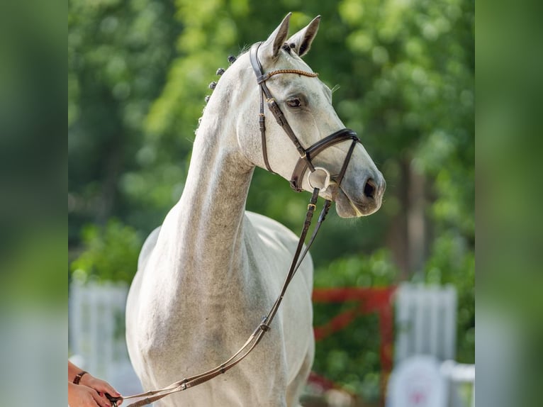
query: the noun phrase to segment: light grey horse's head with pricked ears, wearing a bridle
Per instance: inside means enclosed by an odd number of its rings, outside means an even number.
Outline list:
[[[320,16],[288,38],[290,16],[234,64],[245,89],[236,98],[242,154],[252,165],[290,180],[298,191],[320,188],[320,196],[335,201],[343,218],[374,213],[381,206],[384,177],[356,133],[337,116],[332,91],[302,60]],[[259,120],[264,128],[259,129]]]

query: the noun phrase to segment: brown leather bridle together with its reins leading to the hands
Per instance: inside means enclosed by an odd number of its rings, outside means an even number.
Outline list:
[[[330,179],[332,179],[332,181],[334,181],[337,184],[337,188],[339,190],[342,179],[345,175],[345,172],[347,171],[347,165],[349,165],[352,152],[354,151],[354,146],[357,143],[359,143],[357,133],[354,133],[354,131],[344,128],[335,133],[332,133],[331,135],[328,135],[328,137],[323,138],[323,140],[319,140],[317,143],[311,145],[307,149],[303,148],[298,138],[296,138],[296,135],[293,132],[291,126],[289,125],[289,122],[286,120],[286,117],[281,112],[281,108],[279,108],[279,105],[277,104],[273,96],[271,96],[271,92],[269,91],[266,85],[266,81],[276,74],[299,74],[299,75],[304,75],[307,77],[317,77],[318,74],[313,73],[313,72],[305,72],[298,69],[277,69],[275,71],[264,74],[262,70],[262,65],[260,64],[260,61],[257,55],[259,46],[261,44],[262,43],[256,43],[252,46],[250,50],[250,60],[251,60],[252,68],[254,69],[254,73],[257,76],[257,83],[259,84],[260,89],[262,90],[260,92],[259,128],[262,135],[262,152],[264,155],[264,163],[268,171],[274,173],[271,170],[271,167],[269,166],[269,161],[267,157],[266,127],[265,127],[265,116],[264,116],[264,96],[266,98],[265,100],[267,102],[269,111],[271,111],[271,113],[274,115],[277,123],[279,123],[279,126],[283,128],[286,135],[289,136],[290,140],[295,145],[296,150],[298,150],[298,153],[300,154],[300,158],[298,162],[296,163],[296,166],[294,168],[294,171],[291,177],[291,182],[290,182],[291,187],[295,191],[298,191],[298,192],[302,191],[302,187],[301,187],[302,177],[306,173],[307,169],[309,169],[310,172],[315,172],[315,170],[319,169],[319,167],[315,167],[313,163],[311,162],[312,158],[314,158],[316,155],[318,155],[320,152],[330,147],[331,145],[335,145],[336,143],[341,143],[342,141],[345,141],[345,140],[352,140],[352,144],[349,147],[349,151],[347,152],[347,156],[345,157],[345,161],[343,162],[343,165],[340,169],[339,174],[330,177]],[[328,171],[326,172],[328,174]],[[289,283],[291,282],[292,278],[294,277],[294,274],[296,274],[296,272],[298,271],[298,268],[301,266],[301,263],[303,259],[306,257],[309,251],[309,248],[311,247],[311,245],[313,245],[313,241],[315,240],[315,237],[317,236],[317,233],[320,229],[320,225],[322,225],[323,221],[325,220],[326,215],[328,214],[332,201],[327,199],[325,200],[323,209],[320,212],[318,223],[315,225],[315,228],[313,229],[313,234],[311,235],[310,240],[308,241],[308,244],[306,245],[306,248],[303,249],[303,244],[306,241],[308,230],[311,225],[311,221],[313,219],[313,213],[315,212],[315,209],[316,209],[319,191],[320,191],[319,188],[314,188],[313,194],[311,194],[311,198],[308,204],[308,211],[306,213],[306,220],[303,223],[303,228],[300,234],[300,238],[298,240],[296,252],[294,253],[291,266],[289,268],[289,272],[287,273],[283,286],[281,287],[281,292],[279,293],[279,296],[277,296],[277,299],[275,300],[273,306],[271,306],[271,309],[269,310],[267,315],[262,318],[259,325],[257,326],[257,328],[255,328],[255,330],[247,339],[245,344],[242,347],[240,347],[240,350],[235,352],[235,354],[232,355],[228,360],[218,365],[217,367],[214,367],[213,369],[208,370],[207,372],[196,374],[191,377],[186,377],[185,379],[176,381],[170,384],[169,386],[164,387],[164,389],[147,391],[142,394],[135,394],[133,396],[123,397],[123,399],[125,400],[128,400],[130,398],[142,398],[141,400],[136,401],[135,403],[131,403],[126,407],[146,406],[147,404],[153,403],[162,397],[168,396],[169,394],[177,393],[178,391],[183,391],[191,387],[198,386],[198,384],[203,384],[206,381],[209,381],[220,374],[228,372],[228,370],[232,369],[236,364],[240,363],[243,359],[245,359],[245,357],[247,357],[247,355],[249,355],[250,352],[252,352],[254,347],[257,346],[257,344],[262,340],[264,335],[270,330],[271,321],[274,319],[277,311],[279,310],[279,306],[281,305],[281,301],[283,301],[283,297],[285,295],[286,289],[289,286]],[[113,407],[116,407],[117,401],[121,399],[121,398],[113,398],[109,396],[108,394],[106,394],[106,396],[108,396]]]

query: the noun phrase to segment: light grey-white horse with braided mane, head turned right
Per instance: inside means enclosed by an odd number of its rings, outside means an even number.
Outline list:
[[[308,73],[274,74],[267,87],[296,138],[309,146],[344,126],[332,108],[330,89],[301,60],[320,16],[287,39],[289,18],[257,49],[257,59],[264,72]],[[261,91],[246,52],[220,77],[208,101],[181,199],[142,247],[128,295],[126,339],[147,390],[211,369],[233,355],[269,311],[289,269],[296,235],[245,211],[255,166],[290,179],[300,159],[267,107],[264,158]],[[350,144],[330,146],[313,157],[313,164],[339,172]],[[320,196],[334,199],[344,218],[369,215],[381,206],[385,182],[360,143],[341,188],[333,178],[328,182]],[[313,191],[308,177],[299,185]],[[254,352],[226,374],[167,396],[159,405],[299,406],[313,362],[312,285],[313,264],[307,257]]]

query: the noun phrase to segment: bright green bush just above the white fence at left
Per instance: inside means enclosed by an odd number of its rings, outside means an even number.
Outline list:
[[[134,228],[115,219],[103,228],[86,225],[82,230],[82,242],[84,250],[72,262],[75,278],[132,281],[142,244]]]

